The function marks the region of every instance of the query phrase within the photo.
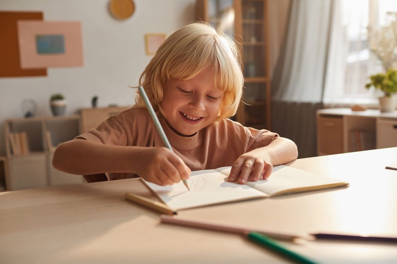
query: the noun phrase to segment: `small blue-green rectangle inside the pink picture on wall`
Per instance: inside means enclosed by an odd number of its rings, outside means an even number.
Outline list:
[[[37,54],[65,53],[64,35],[36,35]]]

